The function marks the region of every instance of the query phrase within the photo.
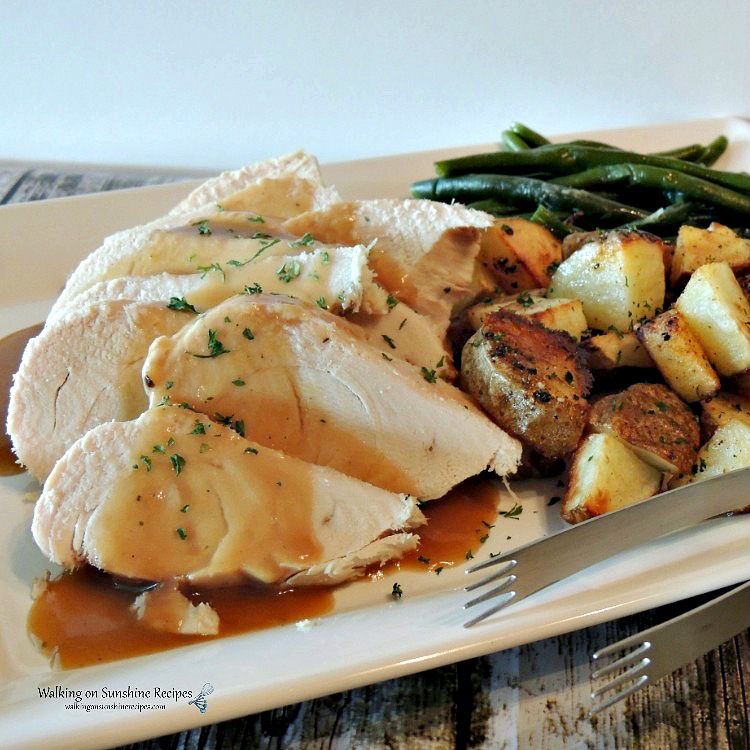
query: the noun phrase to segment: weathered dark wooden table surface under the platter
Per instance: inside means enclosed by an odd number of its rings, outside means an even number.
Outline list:
[[[12,166],[0,168],[0,204],[170,179]],[[694,603],[127,747],[750,748],[750,631],[598,717],[588,717],[591,652]]]

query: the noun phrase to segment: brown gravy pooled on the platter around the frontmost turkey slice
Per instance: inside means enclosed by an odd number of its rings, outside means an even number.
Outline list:
[[[495,523],[497,497],[497,483],[478,478],[464,482],[442,500],[426,504],[428,523],[419,531],[419,550],[392,565],[435,572],[463,562],[469,550],[476,553]],[[130,609],[133,598],[132,593],[115,589],[108,575],[92,568],[65,573],[50,581],[34,601],[29,632],[41,650],[55,655],[65,669],[208,640],[146,627]],[[245,586],[195,592],[191,599],[208,602],[218,612],[220,635],[213,637],[289,624],[333,609],[333,592],[325,587],[282,592],[273,587]]]

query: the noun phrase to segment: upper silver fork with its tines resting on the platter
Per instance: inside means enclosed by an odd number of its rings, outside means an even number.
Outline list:
[[[497,602],[464,623],[471,627],[511,602],[567,578],[584,568],[668,533],[748,505],[750,468],[695,482],[648,500],[557,532],[499,555],[466,570],[473,574],[500,566],[465,587],[474,591],[496,585],[464,604],[464,609],[496,599]]]

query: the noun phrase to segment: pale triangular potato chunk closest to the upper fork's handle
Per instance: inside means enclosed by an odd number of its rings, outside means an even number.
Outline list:
[[[655,495],[661,472],[619,438],[594,433],[576,451],[560,513],[578,523]]]

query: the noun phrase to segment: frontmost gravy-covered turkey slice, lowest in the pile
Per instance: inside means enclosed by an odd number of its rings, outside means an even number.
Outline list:
[[[416,545],[413,498],[158,407],[74,443],[50,474],[32,533],[66,568],[225,585],[338,583]],[[325,570],[325,574],[320,572]]]

